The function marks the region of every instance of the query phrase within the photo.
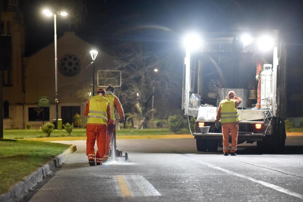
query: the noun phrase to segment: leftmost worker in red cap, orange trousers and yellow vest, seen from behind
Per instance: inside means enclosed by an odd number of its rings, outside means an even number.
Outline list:
[[[111,105],[109,101],[102,96],[105,94],[104,88],[99,88],[96,96],[92,96],[85,105],[84,114],[87,117],[86,124],[86,155],[88,164],[102,165],[106,146],[106,130],[111,119]],[[95,154],[95,141],[97,140],[98,150]]]

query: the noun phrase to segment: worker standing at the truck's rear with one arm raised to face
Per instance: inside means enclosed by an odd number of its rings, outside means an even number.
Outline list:
[[[238,144],[238,121],[240,121],[238,106],[242,102],[242,99],[235,97],[235,95],[234,91],[228,92],[225,100],[220,102],[216,118],[217,129],[219,128],[219,119],[221,118],[224,156],[228,156],[229,133],[231,133],[231,156],[237,155],[235,152]]]

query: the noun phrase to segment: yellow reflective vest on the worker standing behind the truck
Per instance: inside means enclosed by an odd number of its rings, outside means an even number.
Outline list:
[[[235,101],[226,98],[221,101],[221,123],[233,123],[240,121],[238,110],[235,107]]]

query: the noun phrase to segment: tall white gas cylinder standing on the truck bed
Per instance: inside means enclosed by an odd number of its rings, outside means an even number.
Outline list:
[[[264,64],[261,72],[261,108],[272,108],[272,65]]]

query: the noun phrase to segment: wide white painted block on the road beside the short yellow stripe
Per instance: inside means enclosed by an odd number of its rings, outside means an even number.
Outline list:
[[[142,175],[123,175],[132,196],[161,196]]]

